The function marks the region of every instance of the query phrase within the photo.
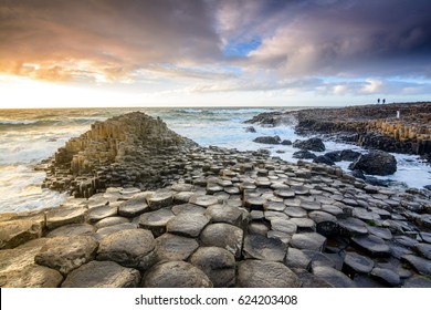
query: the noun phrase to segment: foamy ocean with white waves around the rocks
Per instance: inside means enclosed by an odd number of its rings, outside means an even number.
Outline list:
[[[299,110],[304,107],[283,107]],[[278,135],[282,140],[304,138],[294,133],[293,124],[280,127],[254,125],[256,133],[245,131],[250,126],[245,120],[272,111],[272,107],[212,107],[212,108],[55,108],[55,110],[0,110],[0,213],[23,211],[55,207],[65,198],[50,189],[42,189],[44,173],[34,169],[35,165],[63,146],[73,136],[90,130],[91,124],[132,111],[141,111],[159,116],[169,128],[187,136],[201,146],[222,146],[239,151],[267,148],[273,156],[296,163],[292,154],[297,148],[283,145],[264,145],[252,142],[261,135]],[[325,142],[326,152],[360,147],[343,143]],[[277,153],[282,151],[284,153]],[[431,184],[431,167],[418,156],[393,154],[398,170],[382,177],[395,186],[422,188]],[[349,163],[338,163],[347,169]]]

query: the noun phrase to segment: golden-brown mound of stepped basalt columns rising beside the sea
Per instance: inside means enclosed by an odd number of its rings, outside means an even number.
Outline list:
[[[197,144],[160,118],[133,112],[92,125],[48,162],[44,187],[90,197],[109,186],[155,188],[183,173],[182,154]]]

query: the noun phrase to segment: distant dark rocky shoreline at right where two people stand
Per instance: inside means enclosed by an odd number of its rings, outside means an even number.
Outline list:
[[[365,148],[421,155],[431,163],[430,102],[274,111],[259,114],[246,123],[294,124],[298,134],[327,134]]]

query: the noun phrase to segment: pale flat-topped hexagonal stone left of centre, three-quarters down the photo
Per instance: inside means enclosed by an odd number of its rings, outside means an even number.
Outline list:
[[[208,223],[210,223],[210,220],[204,215],[180,214],[166,224],[166,231],[196,238]]]

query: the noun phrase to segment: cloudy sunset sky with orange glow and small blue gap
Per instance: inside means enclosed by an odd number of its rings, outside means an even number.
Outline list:
[[[429,101],[430,0],[0,0],[0,107]]]

